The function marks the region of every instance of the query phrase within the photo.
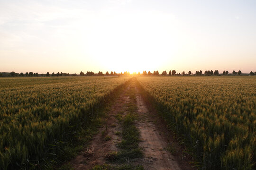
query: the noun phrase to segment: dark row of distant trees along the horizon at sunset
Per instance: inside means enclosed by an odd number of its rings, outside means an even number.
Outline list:
[[[110,73],[107,71],[105,74],[103,74],[102,71],[99,71],[99,73],[94,74],[93,71],[87,71],[86,74],[84,74],[82,71],[80,72],[79,76],[130,76],[130,75],[137,75],[137,76],[228,76],[228,75],[242,75],[241,70],[239,70],[238,72],[236,72],[235,70],[233,70],[232,73],[229,73],[228,70],[224,70],[222,72],[222,74],[219,73],[218,70],[215,70],[214,72],[212,70],[205,70],[204,74],[202,73],[202,70],[200,71],[196,71],[194,74],[189,71],[188,73],[185,73],[185,71],[183,71],[182,73],[177,73],[176,70],[170,70],[169,73],[165,71],[162,72],[162,74],[159,74],[158,70],[154,71],[153,73],[151,73],[150,71],[146,72],[143,71],[142,74],[140,72],[136,73],[132,73],[130,74],[128,71],[125,71],[124,73],[116,73],[115,71],[111,71]],[[244,74],[244,75],[248,75],[248,74]],[[253,76],[256,75],[256,72],[250,72],[249,75]],[[15,73],[14,71],[10,72],[10,73],[0,73],[0,77],[6,77],[6,76],[78,76],[76,73],[73,74],[69,74],[69,73],[52,73],[50,74],[49,72],[47,72],[46,74],[38,74],[38,73],[33,73],[33,72],[26,72],[25,74],[23,72],[21,73]]]

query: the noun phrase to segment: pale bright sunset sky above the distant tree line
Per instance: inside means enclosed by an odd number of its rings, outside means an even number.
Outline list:
[[[0,72],[256,71],[256,0],[0,0]]]

